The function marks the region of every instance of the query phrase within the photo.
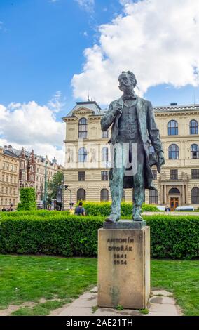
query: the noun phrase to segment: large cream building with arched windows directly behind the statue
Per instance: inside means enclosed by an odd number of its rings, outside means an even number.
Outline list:
[[[94,101],[78,102],[63,120],[66,122],[64,184],[71,190],[72,202],[111,200],[108,173],[111,128],[102,132],[104,114]],[[156,123],[165,152],[161,173],[153,167],[156,190],[146,190],[145,202],[160,205],[199,207],[199,105],[155,107]],[[151,147],[151,152],[153,148]],[[125,190],[132,201],[132,190]],[[64,192],[64,208],[69,191]]]

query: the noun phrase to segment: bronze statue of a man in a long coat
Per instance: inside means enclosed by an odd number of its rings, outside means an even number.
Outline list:
[[[133,188],[133,220],[143,220],[141,211],[145,189],[154,189],[151,166],[156,164],[160,171],[160,166],[165,164],[151,102],[135,95],[137,80],[132,72],[122,72],[118,81],[123,95],[111,102],[101,120],[102,131],[107,131],[112,125],[109,141],[114,151],[113,166],[109,171],[112,204],[111,214],[106,219],[109,223],[120,219],[121,199],[125,188]],[[150,145],[155,150],[155,162],[150,159]],[[131,172],[126,171],[129,163]]]

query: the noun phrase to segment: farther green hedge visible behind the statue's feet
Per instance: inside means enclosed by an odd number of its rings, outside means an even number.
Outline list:
[[[87,216],[109,216],[111,202],[83,202]],[[155,205],[143,204],[142,211],[159,211]],[[121,203],[121,217],[132,215],[132,203]]]

